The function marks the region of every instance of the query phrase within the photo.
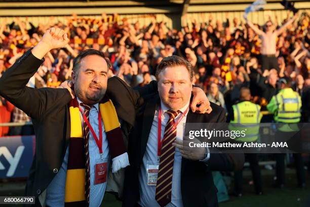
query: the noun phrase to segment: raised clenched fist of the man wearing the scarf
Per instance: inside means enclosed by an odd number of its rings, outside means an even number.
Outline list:
[[[36,58],[42,59],[50,50],[63,48],[68,42],[67,33],[63,29],[52,27],[44,33],[31,52]]]

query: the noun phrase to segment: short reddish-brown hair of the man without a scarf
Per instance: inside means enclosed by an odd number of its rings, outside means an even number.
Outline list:
[[[158,64],[156,68],[156,74],[155,74],[156,79],[159,80],[158,78],[159,74],[163,70],[165,70],[166,67],[173,67],[173,66],[185,66],[189,73],[190,82],[192,82],[193,79],[192,65],[183,57],[177,55],[168,56],[162,59],[162,61]]]

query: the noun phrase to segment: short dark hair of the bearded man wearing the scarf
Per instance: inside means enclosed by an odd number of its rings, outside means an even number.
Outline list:
[[[73,59],[73,73],[75,75],[79,74],[82,59],[84,57],[89,56],[89,55],[98,55],[98,56],[102,57],[106,61],[106,64],[108,66],[108,70],[112,66],[109,58],[105,55],[104,52],[101,52],[100,50],[95,50],[95,49],[87,49],[87,50],[84,50],[83,52],[81,52],[78,56],[76,56]]]

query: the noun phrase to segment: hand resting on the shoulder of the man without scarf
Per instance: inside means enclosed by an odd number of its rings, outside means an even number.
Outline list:
[[[208,113],[210,114],[212,112],[212,108],[210,107],[210,101],[207,98],[205,92],[199,88],[199,87],[193,87],[192,88],[192,101],[191,101],[191,111],[192,112],[198,112],[201,114]],[[197,107],[197,105],[200,105]]]

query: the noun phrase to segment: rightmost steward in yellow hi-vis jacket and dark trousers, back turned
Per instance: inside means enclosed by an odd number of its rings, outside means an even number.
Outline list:
[[[279,124],[276,132],[276,137],[291,137],[286,142],[296,143],[294,134],[298,131],[297,123],[300,121],[301,99],[297,92],[291,88],[292,79],[285,77],[280,79],[281,90],[277,95],[274,95],[267,105],[267,110],[275,114],[275,121]],[[290,143],[289,143],[290,146]],[[303,167],[303,158],[300,153],[293,153],[296,167],[296,176],[298,186],[305,186],[305,170]],[[276,154],[276,183],[275,187],[283,188],[285,181],[285,153]]]

